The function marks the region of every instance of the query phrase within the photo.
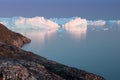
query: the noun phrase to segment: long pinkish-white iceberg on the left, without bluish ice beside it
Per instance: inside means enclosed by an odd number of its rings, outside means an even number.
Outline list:
[[[53,21],[47,20],[44,17],[24,18],[15,21],[15,26],[18,28],[57,30],[59,25]]]

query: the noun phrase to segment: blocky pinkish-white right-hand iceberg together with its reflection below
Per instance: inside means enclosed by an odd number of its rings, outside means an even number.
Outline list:
[[[87,33],[87,20],[78,17],[67,22],[62,27],[75,38],[85,37]]]

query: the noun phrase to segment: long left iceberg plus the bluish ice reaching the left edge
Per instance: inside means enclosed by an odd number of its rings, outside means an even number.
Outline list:
[[[44,17],[13,17],[13,18],[0,18],[0,23],[6,25],[12,30],[57,30],[59,25]]]

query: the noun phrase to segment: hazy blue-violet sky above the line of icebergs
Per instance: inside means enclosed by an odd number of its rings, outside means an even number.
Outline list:
[[[0,0],[0,17],[119,19],[120,0]]]

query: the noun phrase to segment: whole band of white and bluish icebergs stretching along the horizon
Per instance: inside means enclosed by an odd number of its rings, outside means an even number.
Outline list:
[[[46,19],[44,17],[12,17],[12,18],[0,18],[0,23],[7,26],[13,31],[56,31],[65,29],[66,31],[75,32],[75,31],[86,31],[87,28],[92,30],[104,28],[107,25],[114,27],[120,26],[120,20],[86,20],[80,17],[71,17],[71,18],[50,18]],[[103,29],[102,29],[103,30]]]

